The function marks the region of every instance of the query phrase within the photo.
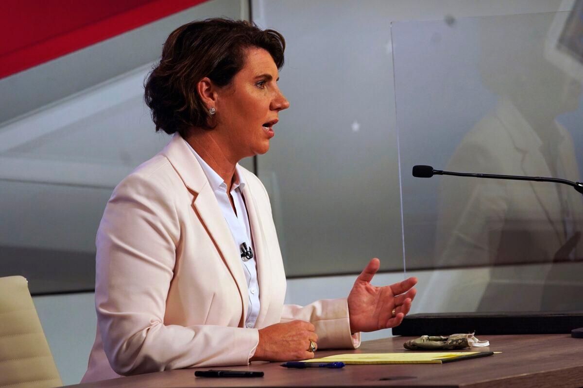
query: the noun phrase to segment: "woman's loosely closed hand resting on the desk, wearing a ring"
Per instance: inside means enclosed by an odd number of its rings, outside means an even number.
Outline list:
[[[298,361],[314,358],[308,351],[310,341],[318,342],[310,322],[276,323],[259,329],[259,344],[250,361]]]

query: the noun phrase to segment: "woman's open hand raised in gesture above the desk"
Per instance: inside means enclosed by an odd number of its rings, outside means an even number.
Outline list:
[[[412,287],[416,277],[409,277],[391,286],[375,287],[370,284],[381,262],[372,259],[356,278],[348,296],[350,332],[373,332],[398,326],[411,308],[417,292]],[[392,311],[395,309],[395,316]]]

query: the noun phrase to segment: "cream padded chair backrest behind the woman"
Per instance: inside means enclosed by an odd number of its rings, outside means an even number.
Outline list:
[[[0,387],[62,385],[27,280],[0,277]]]

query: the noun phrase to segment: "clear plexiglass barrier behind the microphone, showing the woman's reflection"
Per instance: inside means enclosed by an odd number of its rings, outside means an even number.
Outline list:
[[[424,312],[583,310],[583,2],[392,23],[407,270]]]

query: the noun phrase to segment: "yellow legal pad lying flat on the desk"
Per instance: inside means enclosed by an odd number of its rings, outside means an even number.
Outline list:
[[[307,359],[304,362],[344,362],[345,364],[442,364],[441,361],[444,359],[460,358],[477,353],[480,352],[450,351],[335,354],[324,358]]]

